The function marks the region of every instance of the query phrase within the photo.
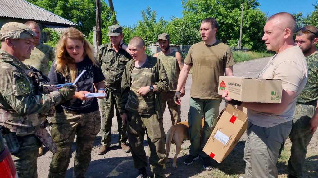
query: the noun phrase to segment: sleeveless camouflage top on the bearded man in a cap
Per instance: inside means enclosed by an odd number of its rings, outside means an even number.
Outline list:
[[[180,75],[179,63],[176,60],[176,51],[168,55],[159,53],[158,58],[162,61],[163,67],[166,70],[169,79],[169,91],[176,91]]]

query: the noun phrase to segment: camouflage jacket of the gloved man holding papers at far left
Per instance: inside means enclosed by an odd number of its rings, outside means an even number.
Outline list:
[[[0,68],[0,124],[18,136],[33,134],[45,121],[40,113],[58,105],[61,94],[40,93],[29,76],[33,71],[1,49]]]

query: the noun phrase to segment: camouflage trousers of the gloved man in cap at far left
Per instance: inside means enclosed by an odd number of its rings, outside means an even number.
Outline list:
[[[41,146],[35,135],[17,137],[20,148],[17,153],[11,153],[19,178],[37,178],[37,159]]]

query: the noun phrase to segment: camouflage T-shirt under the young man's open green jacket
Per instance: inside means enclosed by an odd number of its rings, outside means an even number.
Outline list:
[[[155,113],[155,94],[148,92],[145,96],[137,93],[143,86],[155,84],[154,70],[149,59],[141,66],[133,68],[131,72],[131,87],[125,109],[139,115],[151,115]]]

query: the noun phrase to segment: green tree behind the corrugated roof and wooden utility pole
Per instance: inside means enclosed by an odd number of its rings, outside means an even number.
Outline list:
[[[89,35],[90,31],[96,26],[95,0],[26,0],[58,16],[72,21],[78,26],[84,35]],[[108,5],[100,2],[101,26],[107,28],[112,24],[114,15],[110,13]]]

